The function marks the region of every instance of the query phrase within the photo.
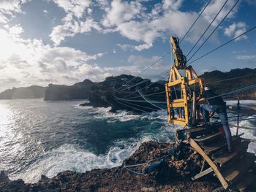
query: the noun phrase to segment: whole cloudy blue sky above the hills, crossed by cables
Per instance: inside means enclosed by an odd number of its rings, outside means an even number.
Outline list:
[[[226,0],[211,0],[181,42],[195,45]],[[200,44],[237,0],[227,0]],[[146,78],[170,69],[170,36],[184,37],[208,0],[0,0],[0,91],[29,85]],[[256,26],[256,1],[240,0],[193,59]],[[192,64],[198,74],[256,67],[256,30]],[[195,50],[197,50],[197,47]],[[194,51],[195,51],[194,50]],[[192,52],[193,53],[193,52]],[[192,55],[188,55],[190,58]],[[164,79],[164,76],[159,79]]]

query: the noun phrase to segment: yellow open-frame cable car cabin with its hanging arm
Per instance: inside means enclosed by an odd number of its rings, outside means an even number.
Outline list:
[[[181,126],[192,125],[199,115],[196,107],[193,107],[193,99],[195,105],[195,97],[203,91],[203,80],[197,76],[192,66],[186,65],[187,58],[178,45],[178,38],[170,37],[170,43],[173,47],[174,65],[170,68],[170,77],[165,84],[168,121]]]

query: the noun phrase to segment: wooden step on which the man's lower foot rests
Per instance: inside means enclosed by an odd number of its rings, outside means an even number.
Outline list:
[[[232,153],[222,153],[220,155],[213,155],[214,161],[216,161],[218,164],[226,164],[227,162],[231,161],[236,156],[241,156],[244,153],[246,153],[246,150],[248,148],[249,142],[240,142],[238,145],[233,146],[233,152]]]

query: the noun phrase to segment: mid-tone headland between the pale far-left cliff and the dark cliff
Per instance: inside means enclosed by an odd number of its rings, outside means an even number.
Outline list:
[[[84,80],[70,86],[50,84],[45,91],[45,101],[89,99],[92,85],[94,82],[91,80]]]

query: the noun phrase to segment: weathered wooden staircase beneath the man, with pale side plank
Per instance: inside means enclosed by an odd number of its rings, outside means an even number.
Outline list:
[[[200,126],[179,131],[182,131],[182,134],[176,134],[176,139],[189,144],[204,159],[200,173],[192,177],[192,180],[214,173],[223,188],[235,187],[238,191],[246,190],[253,181],[256,181],[253,172],[255,154],[246,151],[249,142],[241,139],[240,136],[233,136],[233,151],[228,152],[221,123],[214,123],[211,128]],[[184,136],[182,139],[177,138],[181,135]],[[209,166],[203,170],[205,162]]]

